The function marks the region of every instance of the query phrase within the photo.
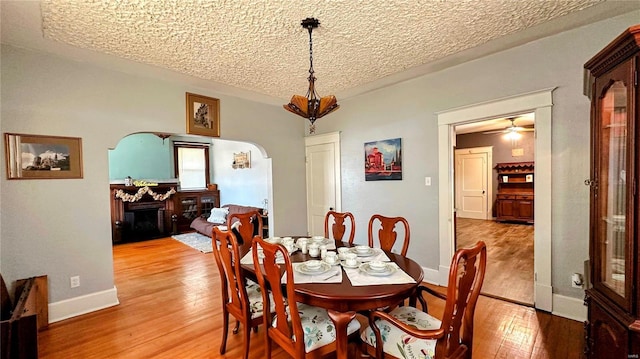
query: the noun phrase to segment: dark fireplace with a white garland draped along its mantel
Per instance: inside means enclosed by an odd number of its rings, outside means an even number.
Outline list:
[[[134,187],[111,186],[113,243],[161,238],[175,232],[173,193],[177,183]]]

